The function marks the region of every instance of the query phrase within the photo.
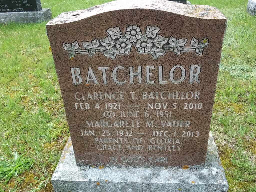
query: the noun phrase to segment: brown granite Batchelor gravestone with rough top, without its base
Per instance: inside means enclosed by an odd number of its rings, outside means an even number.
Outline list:
[[[46,28],[78,165],[203,164],[226,18],[113,1]]]

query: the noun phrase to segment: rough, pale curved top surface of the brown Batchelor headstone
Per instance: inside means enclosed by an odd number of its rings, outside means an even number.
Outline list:
[[[118,0],[88,9],[61,13],[59,16],[48,22],[47,25],[71,23],[100,13],[121,9],[155,9],[188,17],[226,19],[226,17],[216,7],[208,5],[185,5],[165,0],[131,0],[129,3],[126,0]]]

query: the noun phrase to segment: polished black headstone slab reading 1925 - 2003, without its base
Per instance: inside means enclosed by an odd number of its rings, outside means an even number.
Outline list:
[[[0,0],[0,12],[27,12],[42,10],[40,0]]]

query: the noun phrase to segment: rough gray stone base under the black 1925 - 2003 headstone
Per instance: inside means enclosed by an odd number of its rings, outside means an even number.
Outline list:
[[[36,23],[51,19],[50,8],[44,8],[40,11],[29,12],[7,12],[0,13],[0,23]]]

